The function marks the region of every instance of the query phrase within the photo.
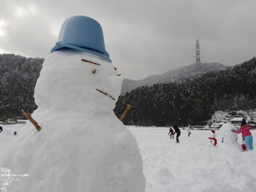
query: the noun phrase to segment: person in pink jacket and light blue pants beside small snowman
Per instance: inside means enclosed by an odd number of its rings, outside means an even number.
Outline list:
[[[240,129],[239,130],[231,129],[231,132],[237,132],[237,133],[242,132],[242,136],[243,136],[244,140],[246,141],[246,150],[247,151],[254,150],[252,133],[250,131],[250,127],[246,124],[245,118],[243,118],[243,120],[242,120]]]

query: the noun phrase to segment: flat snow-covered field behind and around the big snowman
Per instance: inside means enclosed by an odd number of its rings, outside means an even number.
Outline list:
[[[4,131],[0,133],[0,155],[24,130],[22,124],[1,127]],[[146,192],[256,191],[256,153],[240,150],[241,135],[239,144],[225,143],[225,138],[222,143],[223,132],[216,130],[218,144],[214,147],[208,139],[209,130],[192,130],[188,137],[187,130],[181,129],[180,144],[176,144],[175,139],[167,136],[166,127],[127,129],[135,135],[141,151]],[[13,135],[15,131],[18,135]],[[253,130],[254,140],[255,133]]]

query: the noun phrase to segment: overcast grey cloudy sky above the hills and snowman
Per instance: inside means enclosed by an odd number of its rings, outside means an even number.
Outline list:
[[[236,65],[256,56],[255,0],[8,0],[0,2],[0,54],[46,58],[70,16],[97,20],[124,78],[196,62]]]

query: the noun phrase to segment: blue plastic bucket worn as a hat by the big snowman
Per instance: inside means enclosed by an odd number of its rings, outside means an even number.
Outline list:
[[[100,24],[88,16],[71,16],[65,19],[51,53],[65,48],[85,51],[112,62],[106,52]]]

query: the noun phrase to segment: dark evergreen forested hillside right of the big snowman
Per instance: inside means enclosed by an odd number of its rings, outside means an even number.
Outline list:
[[[121,117],[127,104],[133,107],[124,124],[205,124],[216,110],[255,109],[256,59],[224,71],[212,71],[181,83],[142,86],[120,96],[115,114]]]

